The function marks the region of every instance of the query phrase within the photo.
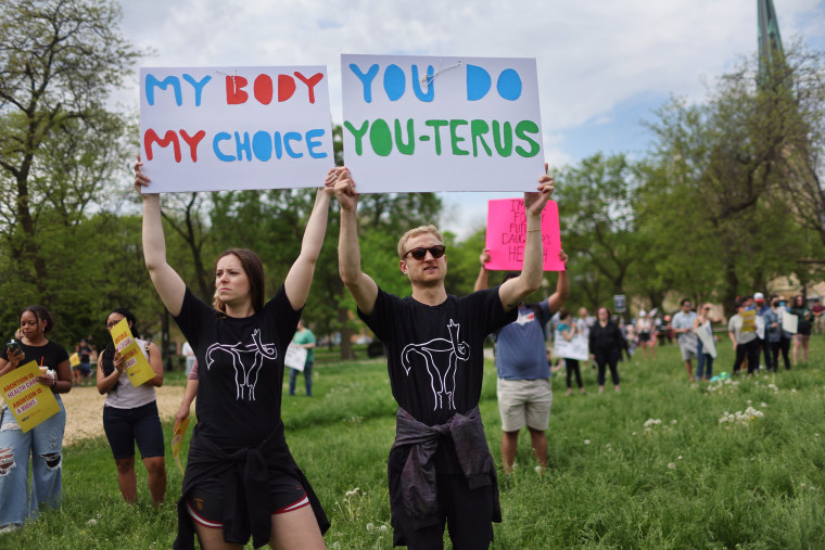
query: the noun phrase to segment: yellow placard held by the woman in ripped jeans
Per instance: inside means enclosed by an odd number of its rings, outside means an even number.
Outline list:
[[[0,376],[3,400],[24,432],[60,412],[54,394],[37,381],[39,375],[40,368],[31,361]]]

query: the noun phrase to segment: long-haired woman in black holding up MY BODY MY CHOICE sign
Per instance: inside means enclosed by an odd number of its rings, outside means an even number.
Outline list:
[[[151,191],[135,166],[135,187]],[[175,548],[326,548],[329,522],[292,459],[283,434],[283,358],[309,293],[331,188],[318,191],[301,253],[283,285],[264,300],[261,258],[230,248],[215,263],[213,306],[190,291],[166,263],[157,194],[143,194],[143,255],[157,294],[195,353],[198,425],[189,447],[178,501]]]

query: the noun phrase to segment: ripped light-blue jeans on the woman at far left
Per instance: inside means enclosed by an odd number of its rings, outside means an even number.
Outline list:
[[[66,409],[60,396],[54,397],[60,412],[27,433],[23,433],[9,409],[0,418],[0,526],[22,525],[27,517],[34,519],[43,502],[51,508],[60,506]]]

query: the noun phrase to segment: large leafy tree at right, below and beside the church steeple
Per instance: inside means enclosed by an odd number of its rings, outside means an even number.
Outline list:
[[[756,67],[724,75],[706,103],[674,99],[657,113],[639,192],[639,219],[670,248],[649,258],[650,271],[695,298],[722,287],[715,297],[726,306],[796,270],[808,250],[794,239],[796,208],[779,192],[805,126],[788,87],[758,86]]]

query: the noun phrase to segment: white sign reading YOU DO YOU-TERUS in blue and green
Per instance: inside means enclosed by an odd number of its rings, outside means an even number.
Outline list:
[[[534,191],[534,59],[341,55],[344,157],[358,191]]]

